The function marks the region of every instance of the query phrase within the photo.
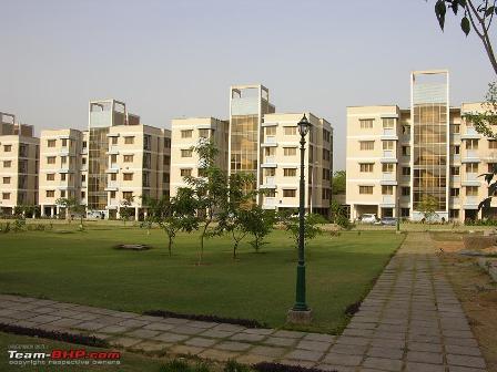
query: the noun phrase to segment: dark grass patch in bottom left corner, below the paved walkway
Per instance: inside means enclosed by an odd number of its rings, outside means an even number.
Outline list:
[[[19,348],[11,349],[11,345],[32,345],[32,347],[41,347],[43,349],[39,350],[21,350]],[[95,349],[95,348],[88,348],[79,344],[73,343],[65,343],[65,342],[59,342],[53,340],[45,340],[45,339],[38,339],[27,335],[17,335],[17,334],[10,334],[10,333],[3,333],[0,332],[0,350],[2,351],[0,353],[0,371],[30,371],[30,372],[53,372],[53,371],[68,371],[68,372],[83,372],[83,371],[101,371],[101,372],[159,372],[161,371],[161,364],[164,363],[164,361],[161,361],[158,358],[151,358],[151,356],[144,356],[144,355],[138,355],[132,354],[128,352],[121,353],[121,364],[119,365],[67,365],[67,366],[60,366],[60,365],[26,365],[26,366],[19,366],[19,365],[10,365],[9,364],[9,358],[8,358],[8,350],[18,350],[18,351],[32,351],[32,352],[50,352],[52,350],[87,350],[87,351],[109,351],[111,349]]]

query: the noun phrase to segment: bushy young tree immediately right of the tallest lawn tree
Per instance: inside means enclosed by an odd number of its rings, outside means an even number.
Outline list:
[[[233,259],[240,242],[251,228],[251,214],[254,198],[258,194],[254,188],[255,177],[251,174],[234,173],[229,179],[226,205],[217,215],[217,229],[229,232],[233,240]],[[258,248],[257,248],[258,249]]]

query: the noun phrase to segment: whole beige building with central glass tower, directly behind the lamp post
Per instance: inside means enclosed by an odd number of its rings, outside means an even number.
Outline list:
[[[255,178],[254,187],[265,192],[257,200],[263,208],[298,207],[300,135],[297,123],[304,113],[275,113],[263,85],[230,89],[230,120],[182,118],[172,122],[171,187],[185,186],[183,177],[199,176],[199,159],[192,146],[214,130],[211,138],[220,151],[222,168]],[[333,170],[333,128],[328,122],[306,113],[313,125],[307,135],[305,208],[328,214]]]

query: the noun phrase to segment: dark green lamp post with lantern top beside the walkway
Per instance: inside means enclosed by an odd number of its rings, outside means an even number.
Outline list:
[[[298,204],[298,264],[297,264],[297,281],[295,288],[295,304],[288,311],[288,322],[308,323],[312,320],[311,309],[305,301],[305,255],[304,255],[304,203],[305,203],[305,136],[307,135],[311,123],[304,116],[298,122],[298,134],[301,135],[301,183],[300,183],[300,204]]]

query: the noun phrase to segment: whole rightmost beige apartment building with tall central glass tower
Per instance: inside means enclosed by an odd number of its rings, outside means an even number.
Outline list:
[[[497,164],[497,142],[478,134],[465,113],[481,103],[449,105],[446,70],[410,75],[410,108],[347,107],[347,192],[351,218],[363,214],[424,218],[420,203],[436,199],[439,220],[475,219],[487,196],[479,174]]]

